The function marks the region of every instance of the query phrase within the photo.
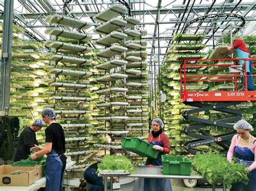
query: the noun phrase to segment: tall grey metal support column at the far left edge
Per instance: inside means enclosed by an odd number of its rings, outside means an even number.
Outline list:
[[[1,114],[8,115],[10,105],[11,47],[14,0],[4,1],[3,44],[1,65]],[[5,112],[6,111],[6,112]]]

